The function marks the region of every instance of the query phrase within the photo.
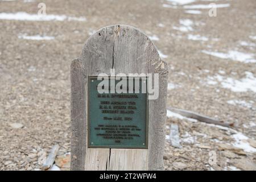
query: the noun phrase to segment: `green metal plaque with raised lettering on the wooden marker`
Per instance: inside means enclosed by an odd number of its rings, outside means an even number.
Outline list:
[[[109,88],[120,82],[115,77],[108,78]],[[126,78],[127,87],[121,88],[127,89],[127,93],[113,93],[111,88],[105,88],[108,93],[99,93],[97,88],[102,80],[88,77],[89,148],[147,148],[148,100],[147,91],[142,92],[142,84],[147,85],[147,78],[137,77],[130,82],[131,77]],[[133,84],[129,85],[131,82]],[[138,85],[139,92],[135,92]],[[129,92],[129,89],[134,92]]]

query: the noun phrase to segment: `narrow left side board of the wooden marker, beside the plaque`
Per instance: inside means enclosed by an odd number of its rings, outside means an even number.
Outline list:
[[[86,92],[84,66],[71,64],[71,170],[84,170],[86,155]]]

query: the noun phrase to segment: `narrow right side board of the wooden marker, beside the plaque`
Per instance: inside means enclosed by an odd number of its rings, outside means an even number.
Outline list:
[[[151,68],[152,69],[152,68]],[[159,61],[151,72],[159,73],[159,98],[150,100],[148,122],[148,169],[163,170],[163,153],[166,124],[166,96],[168,71],[167,64]]]

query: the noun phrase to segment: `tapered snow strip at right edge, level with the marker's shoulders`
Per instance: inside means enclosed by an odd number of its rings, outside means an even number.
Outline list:
[[[210,51],[201,51],[207,55],[220,57],[221,59],[231,59],[234,61],[240,61],[243,63],[256,63],[256,60],[254,59],[254,55],[251,53],[243,53],[239,51],[229,51],[228,53],[222,53],[222,52],[210,52]]]

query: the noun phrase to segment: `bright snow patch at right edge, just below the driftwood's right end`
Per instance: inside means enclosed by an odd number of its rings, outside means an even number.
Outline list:
[[[236,141],[233,143],[234,147],[241,148],[245,152],[250,152],[250,153],[256,152],[256,148],[251,147],[250,144],[246,141],[249,138],[243,135],[242,133],[234,134],[232,135],[232,137]]]

